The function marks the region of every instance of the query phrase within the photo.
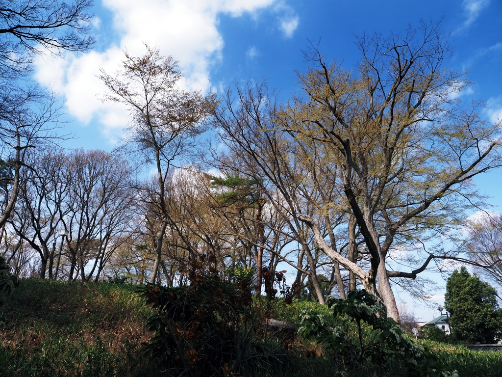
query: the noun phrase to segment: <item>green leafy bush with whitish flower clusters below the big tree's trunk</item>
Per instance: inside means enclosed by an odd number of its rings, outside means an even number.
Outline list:
[[[336,327],[324,315],[304,312],[299,333],[315,338],[335,361],[338,375],[453,376],[456,371],[404,335],[394,320],[366,291],[352,291],[346,300],[330,299]]]

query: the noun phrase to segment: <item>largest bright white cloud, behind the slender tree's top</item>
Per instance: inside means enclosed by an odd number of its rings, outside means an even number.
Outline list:
[[[96,95],[105,89],[96,77],[99,68],[113,72],[123,60],[122,50],[131,55],[143,55],[144,44],[158,47],[161,54],[172,55],[179,61],[184,74],[181,85],[187,89],[208,90],[212,64],[221,58],[224,41],[218,31],[220,14],[238,17],[254,14],[272,6],[277,0],[103,0],[112,20],[96,19],[96,27],[111,22],[112,29],[120,36],[118,45],[111,45],[103,52],[90,51],[81,55],[68,55],[66,60],[40,59],[37,79],[51,86],[66,98],[67,112],[79,121],[89,123],[97,119],[108,137],[127,125],[127,112],[116,104],[102,104]],[[288,7],[281,8],[290,17]],[[276,9],[274,9],[277,12]],[[287,12],[286,12],[287,11]],[[285,16],[285,17],[286,17]],[[288,20],[288,18],[284,20]],[[286,35],[296,28],[281,26]],[[297,25],[298,21],[296,21]],[[101,38],[101,37],[100,37]],[[100,45],[103,41],[98,41]],[[106,41],[104,41],[106,43]],[[250,51],[253,56],[253,51]],[[256,56],[256,55],[255,55]]]

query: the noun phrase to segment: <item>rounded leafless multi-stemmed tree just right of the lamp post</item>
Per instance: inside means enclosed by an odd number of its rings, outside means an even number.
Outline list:
[[[100,151],[75,150],[68,163],[72,176],[67,199],[70,259],[68,279],[84,281],[101,271],[115,249],[133,231],[135,190],[129,161]],[[86,272],[87,268],[87,272]]]

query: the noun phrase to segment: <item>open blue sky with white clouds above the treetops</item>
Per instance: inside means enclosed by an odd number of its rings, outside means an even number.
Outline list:
[[[320,40],[329,60],[351,69],[360,56],[355,36],[399,34],[420,20],[442,18],[441,29],[451,33],[453,48],[447,64],[469,71],[467,78],[474,81],[461,96],[484,99],[487,121],[502,118],[500,0],[95,0],[93,12],[94,48],[65,59],[41,58],[36,73],[66,100],[72,121],[66,127],[76,136],[70,148],[110,151],[127,126],[127,112],[98,100],[104,87],[96,77],[100,67],[118,68],[123,49],[142,55],[147,43],[172,55],[189,89],[266,78],[287,98],[299,89],[295,70],[306,69],[302,50],[309,40]],[[493,171],[477,179],[496,206],[502,205],[500,175]]]

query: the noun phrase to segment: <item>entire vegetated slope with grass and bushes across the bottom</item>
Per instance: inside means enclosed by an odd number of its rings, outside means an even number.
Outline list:
[[[393,370],[390,375],[407,376],[415,374],[404,360],[416,350],[416,375],[454,376],[441,370],[456,369],[459,376],[495,376],[502,370],[502,355],[496,352],[423,340],[413,345],[411,339],[404,342],[412,348],[400,348],[399,339],[407,338],[397,325],[373,317],[376,322],[368,326],[371,321],[362,318],[373,309],[355,296],[335,300],[335,312],[343,305],[345,313],[333,315],[328,306],[313,302],[258,300],[242,286],[218,279],[179,289],[149,287],[143,296],[131,285],[21,280],[2,296],[0,376],[389,375],[382,362],[375,362],[382,357]],[[211,290],[217,294],[209,295]],[[264,330],[265,313],[293,324],[299,334]],[[358,348],[361,326],[371,352]],[[393,334],[397,348],[392,342],[389,347],[368,343],[377,336],[387,344]],[[423,358],[426,349],[432,353]]]

